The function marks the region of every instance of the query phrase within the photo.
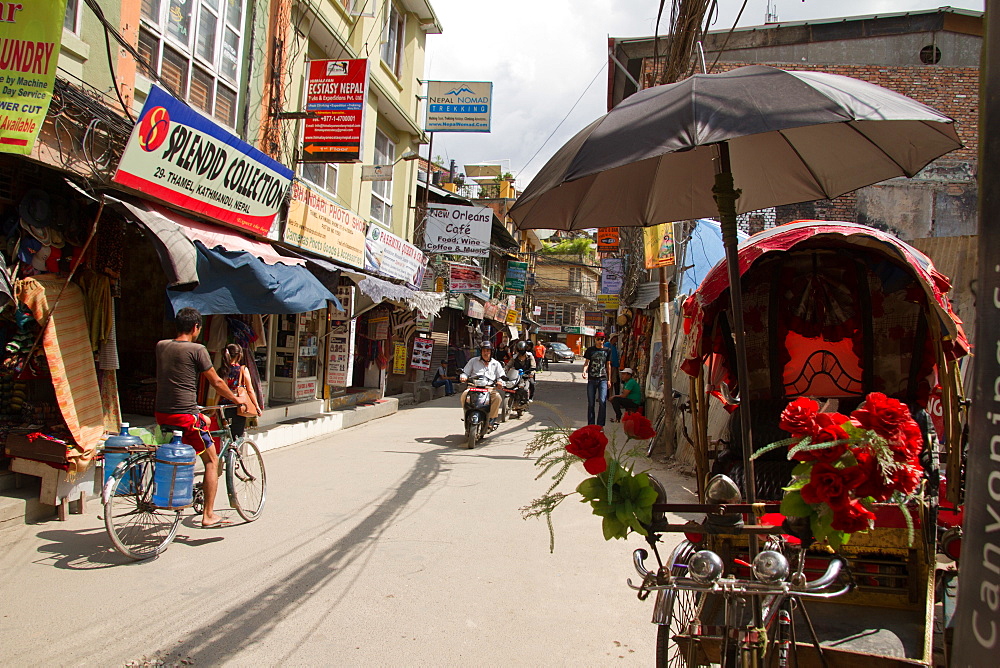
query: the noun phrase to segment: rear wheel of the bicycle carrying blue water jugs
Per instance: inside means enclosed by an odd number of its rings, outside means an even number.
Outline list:
[[[153,505],[153,458],[143,457],[105,483],[104,526],[115,549],[141,560],[167,549],[177,535],[180,510]]]

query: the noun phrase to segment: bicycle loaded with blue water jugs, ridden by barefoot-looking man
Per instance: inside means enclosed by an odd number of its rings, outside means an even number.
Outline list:
[[[235,404],[198,406],[199,412],[219,411],[221,429],[210,432],[221,439],[219,453],[220,477],[225,469],[229,503],[246,522],[260,517],[267,500],[267,474],[264,459],[253,441],[241,436],[233,438],[228,418],[221,409]],[[170,431],[170,425],[162,425]],[[129,448],[129,456],[115,467],[102,490],[104,526],[112,544],[119,552],[136,560],[160,554],[177,535],[183,508],[159,508],[153,504],[156,458],[155,445]],[[204,510],[202,483],[195,485],[195,512]]]

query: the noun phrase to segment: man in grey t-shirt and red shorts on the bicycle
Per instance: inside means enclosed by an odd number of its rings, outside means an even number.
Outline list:
[[[215,513],[215,495],[219,490],[219,456],[209,434],[209,419],[198,412],[198,383],[204,378],[222,399],[246,404],[219,377],[208,350],[195,340],[201,334],[202,319],[198,309],[185,307],[177,312],[177,336],[156,344],[156,422],[180,427],[184,442],[194,448],[205,463],[205,512],[201,526],[211,528],[228,524]]]

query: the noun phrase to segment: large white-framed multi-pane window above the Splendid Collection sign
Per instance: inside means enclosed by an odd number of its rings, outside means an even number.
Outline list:
[[[79,2],[80,0],[69,0]],[[142,0],[139,53],[182,100],[236,126],[246,0]],[[145,68],[143,68],[145,70]]]

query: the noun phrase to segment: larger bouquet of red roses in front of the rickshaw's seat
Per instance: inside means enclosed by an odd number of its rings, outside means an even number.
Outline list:
[[[782,412],[780,427],[792,437],[753,457],[788,448],[788,458],[799,464],[784,488],[781,512],[807,519],[813,536],[834,549],[851,534],[874,527],[874,503],[902,507],[920,487],[923,434],[909,408],[881,392],[869,394],[850,417],[822,413],[812,399],[796,399]],[[903,516],[912,535],[905,509]]]

